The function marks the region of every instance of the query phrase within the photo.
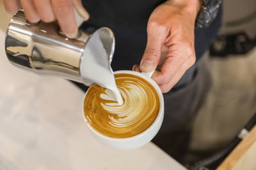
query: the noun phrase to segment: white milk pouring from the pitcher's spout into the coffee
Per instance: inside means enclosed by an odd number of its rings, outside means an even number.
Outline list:
[[[109,57],[100,39],[99,32],[95,32],[84,48],[81,58],[80,73],[85,85],[98,85],[109,89],[109,96],[122,105],[122,96],[116,87],[115,76],[109,64]]]

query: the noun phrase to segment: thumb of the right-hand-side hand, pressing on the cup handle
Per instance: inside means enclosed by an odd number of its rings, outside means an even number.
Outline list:
[[[163,26],[157,25],[156,22],[148,22],[147,33],[147,46],[140,62],[140,69],[143,72],[150,72],[156,69],[168,31]]]

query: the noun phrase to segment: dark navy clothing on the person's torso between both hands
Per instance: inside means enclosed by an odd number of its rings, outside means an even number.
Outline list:
[[[87,21],[96,27],[109,27],[115,34],[113,70],[131,69],[140,64],[147,44],[147,22],[163,0],[82,0],[90,14]]]

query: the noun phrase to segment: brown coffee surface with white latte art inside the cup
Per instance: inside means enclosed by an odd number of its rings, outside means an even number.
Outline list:
[[[110,90],[92,85],[84,99],[86,122],[95,131],[111,138],[129,138],[145,131],[159,112],[154,87],[140,76],[115,74],[124,104],[118,105]]]

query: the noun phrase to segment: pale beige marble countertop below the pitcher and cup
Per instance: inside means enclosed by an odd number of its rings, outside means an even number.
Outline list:
[[[108,148],[84,123],[84,93],[12,66],[0,30],[0,169],[185,169],[153,143]]]

